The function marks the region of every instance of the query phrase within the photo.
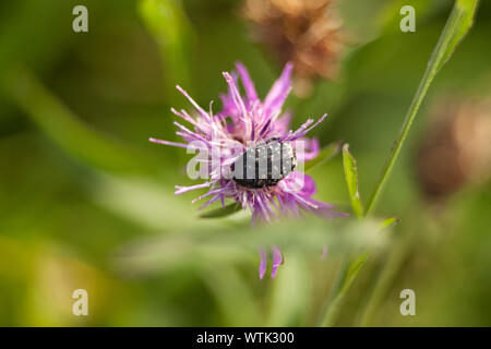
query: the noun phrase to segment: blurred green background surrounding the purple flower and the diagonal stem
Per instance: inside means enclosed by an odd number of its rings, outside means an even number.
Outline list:
[[[88,9],[88,33],[72,31],[77,4]],[[416,8],[416,33],[399,31],[404,4]],[[287,101],[297,127],[330,113],[313,133],[323,145],[350,144],[364,200],[452,4],[339,0],[338,73]],[[318,323],[364,228],[352,218],[252,230],[242,213],[200,218],[193,194],[172,193],[191,182],[190,156],[147,141],[177,140],[169,109],[190,106],[176,83],[217,110],[221,72],[240,60],[267,93],[283,62],[242,8],[232,0],[0,2],[0,325]],[[356,280],[337,325],[491,325],[490,10],[481,1],[430,88],[373,218],[402,221]],[[310,174],[318,198],[350,212],[339,155]],[[286,263],[274,280],[260,280],[254,243],[282,234]],[[321,260],[315,244],[324,234],[333,249]],[[72,314],[79,288],[88,291],[88,316]],[[399,313],[405,288],[416,292],[416,316]]]

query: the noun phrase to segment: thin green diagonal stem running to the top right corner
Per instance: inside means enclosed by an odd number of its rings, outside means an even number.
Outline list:
[[[416,91],[411,105],[406,113],[400,134],[392,148],[388,160],[385,163],[385,166],[382,169],[382,174],[376,182],[372,195],[367,204],[366,214],[369,214],[372,210],[385,182],[392,172],[394,164],[396,163],[400,149],[403,148],[404,142],[409,133],[409,129],[415,121],[416,115],[421,107],[431,82],[436,73],[442,69],[443,64],[448,61],[457,45],[472,26],[478,2],[478,0],[455,1],[452,13],[450,14],[442,35],[440,36],[439,41],[431,53],[427,70],[424,71],[423,77],[419,83],[418,89]]]

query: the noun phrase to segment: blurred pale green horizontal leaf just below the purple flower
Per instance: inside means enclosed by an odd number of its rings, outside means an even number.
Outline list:
[[[370,220],[344,220],[334,226],[325,225],[314,217],[306,217],[302,220],[284,219],[254,227],[241,224],[233,229],[216,219],[200,221],[200,229],[183,221],[187,227],[170,227],[168,232],[159,237],[124,244],[117,253],[118,261],[113,262],[122,270],[131,273],[171,272],[177,264],[194,263],[202,258],[223,265],[250,263],[251,255],[255,256],[259,246],[273,244],[288,251],[290,256],[298,253],[299,257],[312,256],[319,260],[324,244],[330,246],[330,256],[337,258],[347,249],[367,251],[370,246],[383,248],[388,241],[378,232],[376,224]],[[200,258],[196,258],[197,255]]]

